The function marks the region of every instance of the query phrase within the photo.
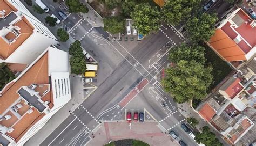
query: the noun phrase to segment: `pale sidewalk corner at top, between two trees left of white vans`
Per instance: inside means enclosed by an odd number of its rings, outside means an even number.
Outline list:
[[[85,1],[80,1],[89,9],[88,13],[79,13],[82,15],[93,27],[103,27],[103,18]]]

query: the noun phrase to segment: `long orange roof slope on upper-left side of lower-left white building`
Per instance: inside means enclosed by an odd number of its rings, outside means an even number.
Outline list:
[[[32,83],[48,84],[48,52],[39,59],[25,74],[18,79],[0,98],[0,114],[17,100],[18,89],[21,86],[29,86]]]

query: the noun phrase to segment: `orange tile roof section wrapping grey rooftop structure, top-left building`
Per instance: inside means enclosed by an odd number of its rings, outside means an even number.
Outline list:
[[[4,59],[8,58],[8,56],[10,56],[19,46],[21,46],[21,44],[33,33],[33,29],[30,27],[30,25],[25,23],[23,19],[13,24],[13,26],[18,26],[21,28],[21,30],[19,30],[21,34],[19,34],[19,36],[15,39],[16,41],[11,44],[7,43],[2,37],[0,37],[0,55]]]

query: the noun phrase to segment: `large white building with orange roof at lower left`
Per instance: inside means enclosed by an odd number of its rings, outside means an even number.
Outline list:
[[[0,94],[0,145],[23,145],[71,99],[69,55],[48,47]]]

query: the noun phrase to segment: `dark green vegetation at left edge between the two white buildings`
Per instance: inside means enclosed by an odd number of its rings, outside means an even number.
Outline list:
[[[2,90],[3,87],[13,79],[15,79],[14,74],[10,71],[6,64],[0,63],[0,90]]]

